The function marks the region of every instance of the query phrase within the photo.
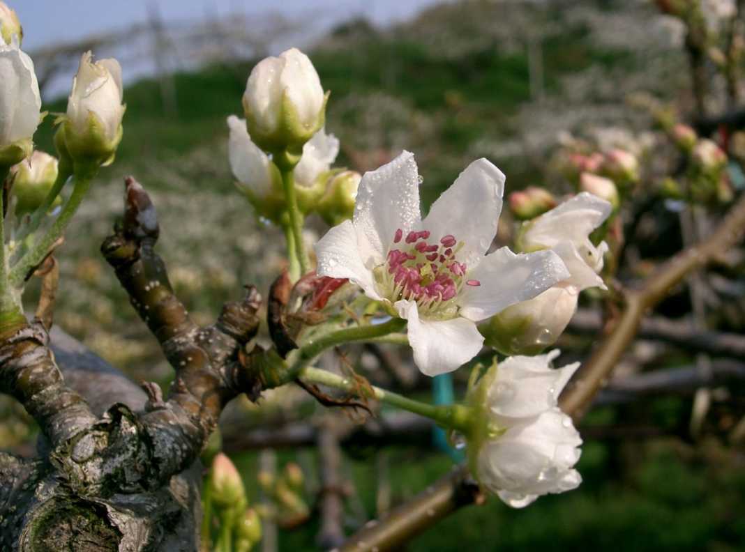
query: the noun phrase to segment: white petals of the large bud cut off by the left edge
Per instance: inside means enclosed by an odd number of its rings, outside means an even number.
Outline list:
[[[34,62],[19,48],[0,45],[0,150],[31,140],[41,106]]]

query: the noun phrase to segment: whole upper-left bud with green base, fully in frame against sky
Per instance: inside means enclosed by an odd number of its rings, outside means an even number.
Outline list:
[[[93,62],[90,52],[80,57],[62,126],[73,160],[104,165],[113,161],[121,141],[123,93],[117,60]]]

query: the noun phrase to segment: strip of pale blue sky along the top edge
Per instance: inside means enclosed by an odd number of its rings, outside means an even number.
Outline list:
[[[230,13],[279,12],[288,16],[308,10],[339,12],[338,19],[367,16],[378,23],[406,19],[436,0],[5,0],[18,13],[24,49],[75,40],[145,21],[157,4],[163,19],[200,19]]]

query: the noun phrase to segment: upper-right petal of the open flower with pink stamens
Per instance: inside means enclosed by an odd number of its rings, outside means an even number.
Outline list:
[[[504,173],[487,159],[477,159],[432,204],[422,228],[436,242],[448,234],[463,241],[458,260],[472,266],[492,245],[503,193]]]

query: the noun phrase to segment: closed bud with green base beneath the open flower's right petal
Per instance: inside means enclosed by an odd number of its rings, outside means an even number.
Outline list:
[[[536,355],[556,343],[577,310],[579,293],[554,286],[529,301],[507,307],[478,330],[486,344],[504,355]]]

